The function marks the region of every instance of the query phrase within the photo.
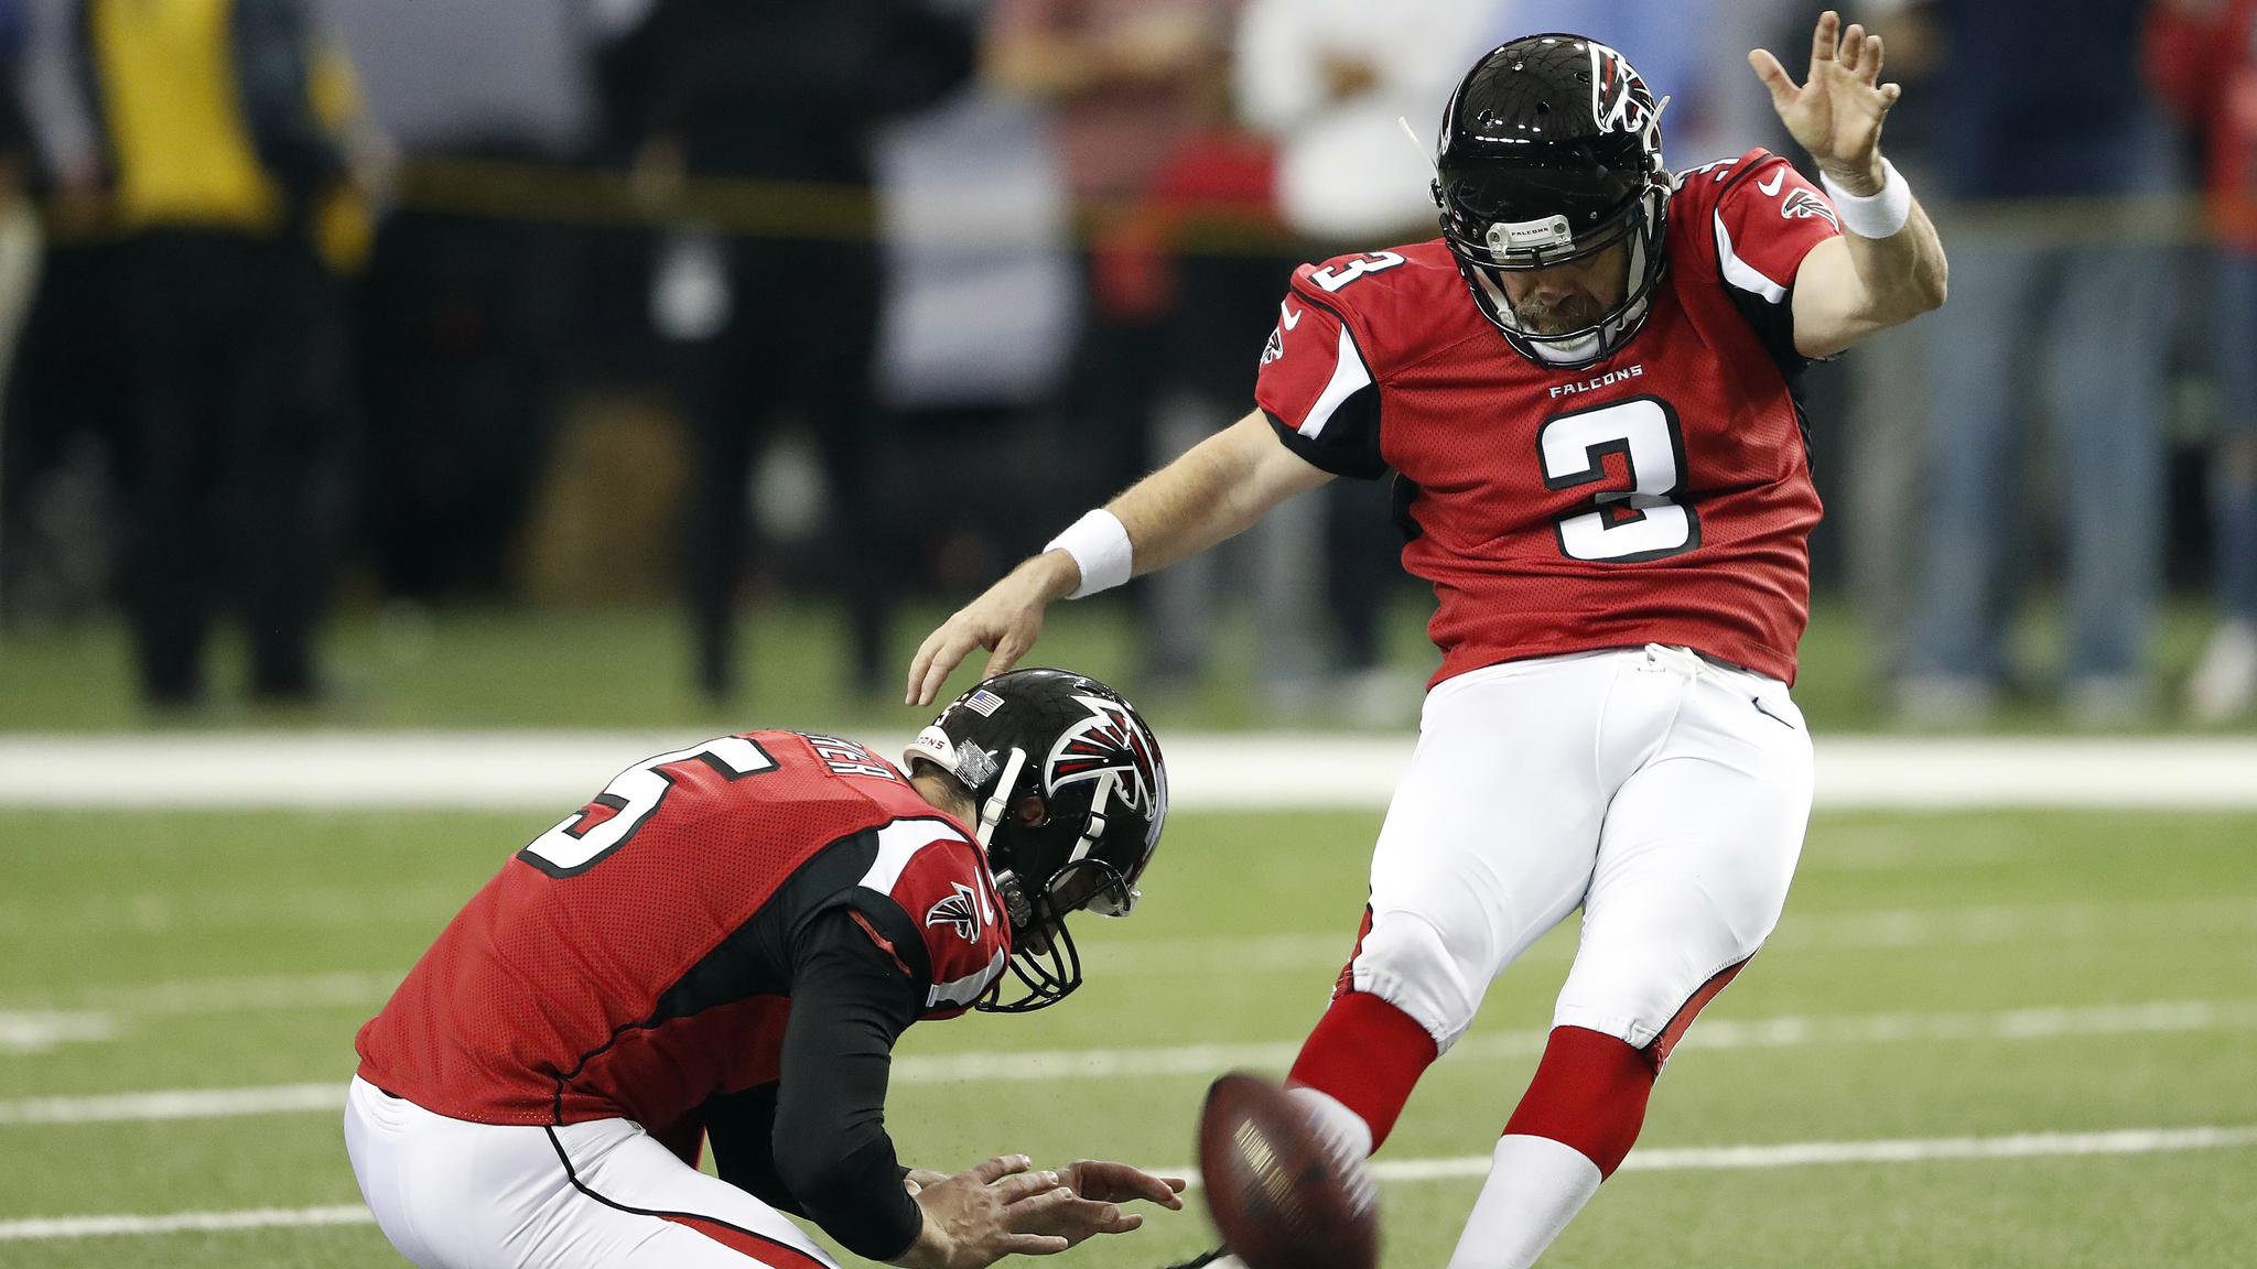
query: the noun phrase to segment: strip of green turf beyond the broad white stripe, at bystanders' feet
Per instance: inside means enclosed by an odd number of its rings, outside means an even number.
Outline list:
[[[1395,596],[1386,614],[1384,648],[1411,682],[1440,664],[1426,641],[1431,598],[1415,589]],[[115,621],[65,630],[0,632],[0,729],[88,732],[147,723],[187,727],[815,727],[914,732],[930,711],[901,704],[898,677],[910,655],[941,619],[941,603],[905,605],[892,628],[885,691],[860,695],[849,686],[846,630],[837,610],[822,603],[765,603],[743,616],[738,700],[713,707],[688,686],[688,650],[673,607],[614,607],[544,612],[528,607],[370,610],[352,607],[332,621],[327,648],[330,695],[316,707],[253,709],[239,700],[241,646],[221,632],[214,650],[212,700],[190,716],[144,714],[133,700],[131,657]],[[2155,621],[2149,668],[2167,707],[2155,727],[2180,725],[2176,700],[2203,650],[2212,614],[2198,603],[2169,603]],[[1314,700],[1280,709],[1255,682],[1255,630],[1244,616],[1219,621],[1212,659],[1201,682],[1156,693],[1140,680],[1138,610],[1128,598],[1056,605],[1043,630],[1036,662],[1074,666],[1126,691],[1167,736],[1176,729],[1235,729],[1275,725],[1338,725],[1336,702]],[[2018,625],[2018,662],[2043,682],[2061,662],[2058,614],[2034,603]],[[1794,698],[1819,732],[1871,729],[1889,723],[1873,634],[1848,605],[1819,601],[1801,641]],[[984,657],[973,657],[950,682],[971,686]],[[1413,693],[1415,707],[1415,693]],[[1408,729],[1411,718],[1399,718]],[[2011,693],[2000,709],[2000,732],[2054,732],[2063,723],[2049,693]],[[2257,727],[2257,718],[2232,729]]]

